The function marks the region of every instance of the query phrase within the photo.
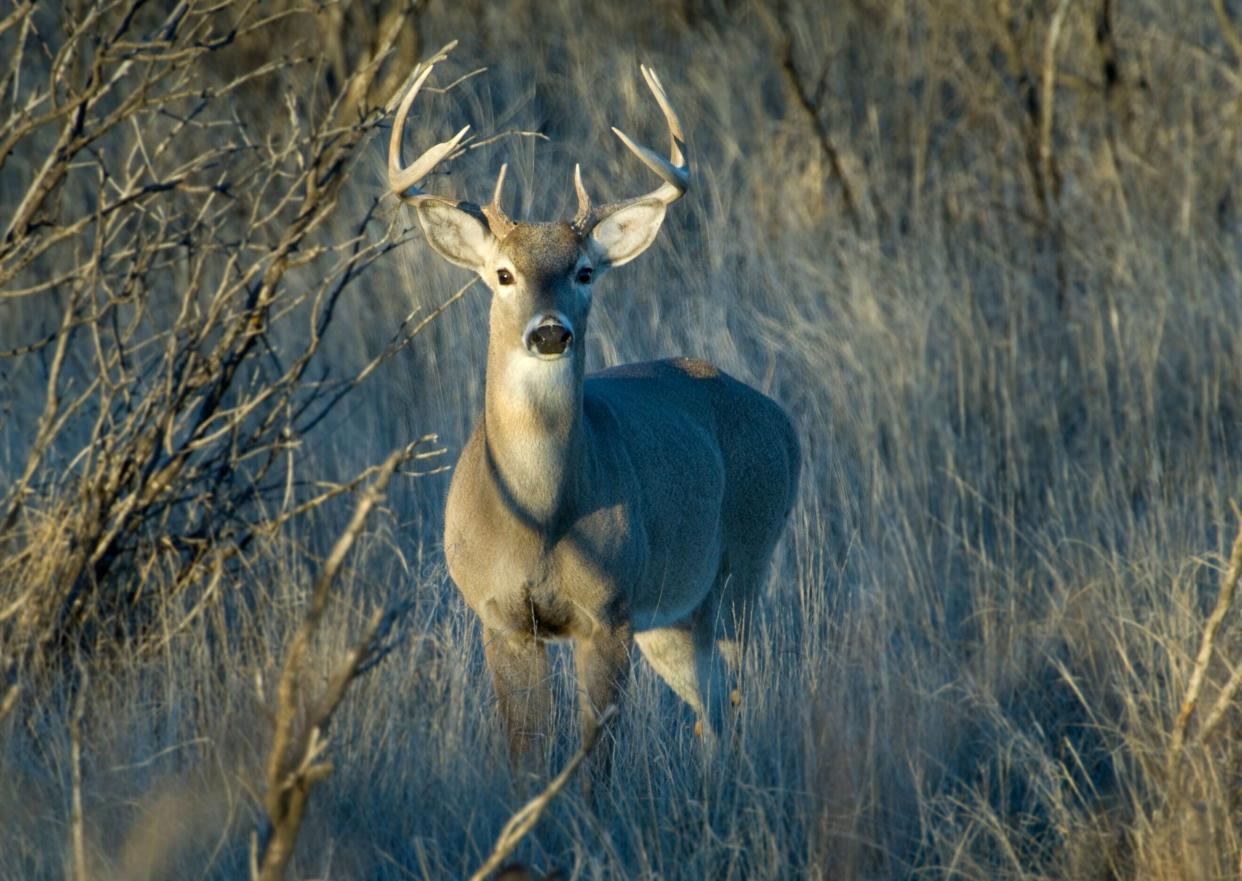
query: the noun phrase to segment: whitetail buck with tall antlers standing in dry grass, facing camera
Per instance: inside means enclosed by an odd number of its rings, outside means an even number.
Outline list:
[[[483,206],[419,188],[468,126],[401,164],[410,106],[442,57],[397,108],[389,181],[416,206],[431,246],[492,290],[483,415],[448,490],[445,555],[483,624],[510,755],[538,752],[546,732],[544,644],[556,639],[574,641],[584,734],[616,701],[633,640],[709,736],[724,693],[720,655],[737,661],[794,504],[794,426],[775,401],[707,362],[590,377],[584,368],[595,285],[651,245],[689,183],[681,123],[643,67],[671,157],[612,130],[663,183],[592,205],[575,168],[573,221],[515,222],[501,208],[504,167]]]

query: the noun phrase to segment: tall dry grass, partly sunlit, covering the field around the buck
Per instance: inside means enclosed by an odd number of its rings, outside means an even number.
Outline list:
[[[809,4],[784,24],[764,4],[466,6],[422,14],[424,46],[462,39],[446,80],[491,70],[428,102],[417,143],[465,122],[550,140],[501,139],[437,186],[483,199],[508,160],[510,214],[533,219],[571,210],[575,160],[596,198],[637,191],[607,127],[663,143],[637,73],[651,63],[696,178],[652,250],[601,285],[592,364],[709,358],[781,400],[805,450],[729,746],[704,759],[636,655],[597,811],[570,788],[517,856],[571,879],[1236,875],[1236,711],[1203,741],[1192,727],[1167,777],[1242,461],[1237,66],[1211,6],[1115,10],[1122,81],[1105,94],[1098,10],[1073,5],[1052,219],[1023,77],[1040,82],[1056,4]],[[857,224],[779,65],[782,29],[812,84],[827,71],[820,112]],[[347,201],[379,191],[383,147]],[[338,307],[323,363],[347,374],[465,281],[416,236]],[[53,307],[22,301],[20,321]],[[486,321],[476,288],[303,439],[302,477],[351,476],[427,431],[456,449]],[[4,393],[5,477],[40,369],[6,374],[22,381]],[[327,671],[374,605],[412,599],[406,647],[333,724],[298,877],[466,877],[522,804],[478,625],[441,564],[445,488],[390,488],[317,644]],[[347,516],[256,542],[227,601],[92,673],[98,877],[246,875],[271,733],[256,675],[270,685]],[[1235,613],[1205,707],[1238,649]],[[574,687],[554,655],[563,759]],[[34,690],[0,723],[0,877],[71,872],[70,716],[63,690]]]

